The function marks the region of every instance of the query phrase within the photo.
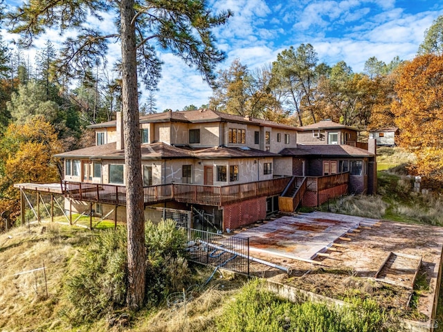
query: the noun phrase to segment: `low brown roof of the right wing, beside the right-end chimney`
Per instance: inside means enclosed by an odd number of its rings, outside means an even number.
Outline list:
[[[283,156],[348,156],[348,157],[372,157],[371,152],[352,147],[350,145],[297,145],[280,151]]]

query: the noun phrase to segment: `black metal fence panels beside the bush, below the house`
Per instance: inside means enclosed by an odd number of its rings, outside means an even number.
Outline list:
[[[249,239],[188,228],[191,261],[249,275]]]

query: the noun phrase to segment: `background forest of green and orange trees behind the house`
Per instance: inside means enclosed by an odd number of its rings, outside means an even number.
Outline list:
[[[283,50],[253,70],[237,59],[219,71],[202,107],[295,127],[327,118],[362,130],[396,126],[399,144],[417,155],[411,172],[441,180],[442,45],[439,17],[414,59],[386,64],[370,57],[362,73],[343,61],[318,62],[311,44]],[[22,48],[10,49],[0,36],[0,211],[17,206],[14,183],[60,181],[53,154],[93,145],[87,125],[114,120],[120,110],[118,68],[89,62],[74,79],[62,66],[62,53],[47,42],[30,64]],[[183,107],[190,109],[197,107]],[[153,88],[141,113],[157,111]]]

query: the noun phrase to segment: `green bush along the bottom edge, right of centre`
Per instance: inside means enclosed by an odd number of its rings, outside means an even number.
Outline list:
[[[264,282],[246,284],[217,320],[217,331],[388,331],[388,317],[376,302],[355,300],[349,306],[291,303],[264,289]]]

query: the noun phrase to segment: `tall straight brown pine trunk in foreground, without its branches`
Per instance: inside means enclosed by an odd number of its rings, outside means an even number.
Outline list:
[[[122,111],[126,166],[127,304],[139,308],[145,296],[145,217],[141,175],[141,140],[138,123],[138,91],[134,0],[120,1],[122,43]]]

